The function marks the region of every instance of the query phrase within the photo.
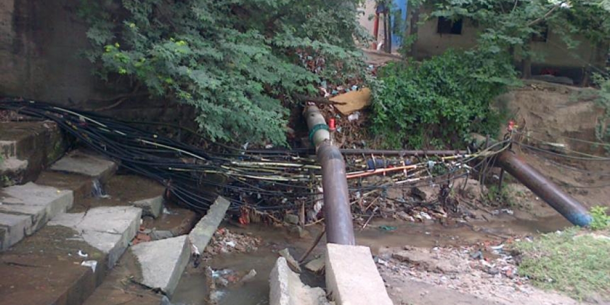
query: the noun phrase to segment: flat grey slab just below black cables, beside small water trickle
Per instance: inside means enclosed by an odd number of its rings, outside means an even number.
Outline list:
[[[82,174],[106,182],[117,171],[117,163],[76,150],[53,163],[51,170]]]

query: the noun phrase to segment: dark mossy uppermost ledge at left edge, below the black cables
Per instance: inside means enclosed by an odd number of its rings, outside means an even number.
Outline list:
[[[0,123],[0,186],[34,181],[68,148],[68,137],[49,121]]]

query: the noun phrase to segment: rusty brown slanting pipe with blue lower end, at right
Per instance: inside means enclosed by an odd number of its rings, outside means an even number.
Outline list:
[[[501,152],[497,163],[572,224],[588,226],[591,222],[592,217],[587,209],[537,170],[520,160],[514,152]]]

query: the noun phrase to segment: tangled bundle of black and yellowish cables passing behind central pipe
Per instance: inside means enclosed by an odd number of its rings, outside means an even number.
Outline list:
[[[163,184],[181,204],[198,212],[205,212],[220,193],[229,198],[234,211],[277,212],[307,206],[318,213],[321,209],[321,168],[315,159],[298,152],[254,154],[236,149],[211,154],[92,112],[10,98],[0,99],[0,109],[54,121],[88,148]],[[347,178],[354,196],[389,186],[442,184],[467,175],[473,160],[506,147],[504,141],[474,154],[442,157],[351,156],[346,158]],[[374,175],[384,179],[364,183]]]

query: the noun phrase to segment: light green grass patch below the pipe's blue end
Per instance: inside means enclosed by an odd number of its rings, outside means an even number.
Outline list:
[[[515,249],[522,254],[519,273],[542,289],[558,290],[577,300],[610,293],[608,239],[571,228],[515,243]]]

